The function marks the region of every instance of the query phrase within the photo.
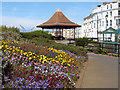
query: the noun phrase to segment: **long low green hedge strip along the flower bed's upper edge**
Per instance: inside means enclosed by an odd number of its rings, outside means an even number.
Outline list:
[[[65,45],[65,44],[58,44],[55,43],[54,40],[49,40],[46,38],[33,38],[31,42],[35,43],[36,45],[43,45],[51,48],[55,48],[58,50],[70,51],[76,55],[87,56],[87,50],[80,46],[73,46],[73,45]]]

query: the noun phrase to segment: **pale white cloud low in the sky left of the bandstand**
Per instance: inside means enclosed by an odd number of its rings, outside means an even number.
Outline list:
[[[35,20],[35,19],[28,19],[28,18],[18,18],[18,17],[9,17],[9,16],[2,16],[2,25],[6,26],[15,26],[20,29],[20,25],[22,25],[26,30],[30,31],[33,27],[43,23],[44,20]]]

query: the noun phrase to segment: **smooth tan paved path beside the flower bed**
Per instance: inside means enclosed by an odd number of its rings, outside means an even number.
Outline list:
[[[88,54],[81,88],[118,88],[118,58]]]

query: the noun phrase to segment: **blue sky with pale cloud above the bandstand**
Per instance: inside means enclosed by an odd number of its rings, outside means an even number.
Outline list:
[[[71,21],[82,25],[83,19],[102,2],[2,2],[2,25],[20,27],[26,31],[40,29],[44,23],[60,8]]]

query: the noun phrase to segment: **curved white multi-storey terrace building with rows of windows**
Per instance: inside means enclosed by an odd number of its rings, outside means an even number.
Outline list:
[[[84,18],[82,33],[85,37],[98,37],[99,41],[102,41],[102,32],[109,27],[118,29],[118,24],[120,24],[120,1],[104,2],[103,5],[97,5],[92,13]],[[113,40],[115,36],[108,37]]]

